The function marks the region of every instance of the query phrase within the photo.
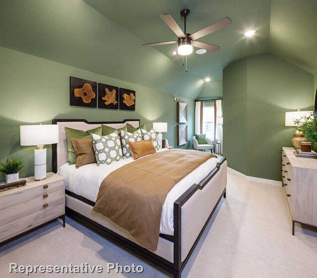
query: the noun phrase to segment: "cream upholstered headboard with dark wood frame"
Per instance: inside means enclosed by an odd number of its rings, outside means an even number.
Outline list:
[[[86,120],[77,119],[53,119],[53,124],[58,125],[59,132],[58,143],[53,144],[53,172],[56,173],[58,168],[67,162],[67,143],[65,127],[87,131],[97,128],[100,125],[107,125],[118,129],[124,127],[127,123],[135,128],[138,128],[140,126],[140,120],[123,120],[122,122],[88,122]]]

